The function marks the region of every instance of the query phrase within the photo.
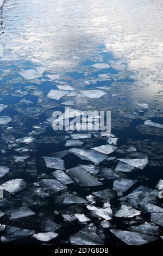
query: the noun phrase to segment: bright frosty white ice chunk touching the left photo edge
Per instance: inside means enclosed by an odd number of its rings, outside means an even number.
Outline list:
[[[25,187],[26,187],[26,182],[22,179],[8,180],[7,182],[3,183],[0,186],[0,188],[10,193],[21,191]]]

